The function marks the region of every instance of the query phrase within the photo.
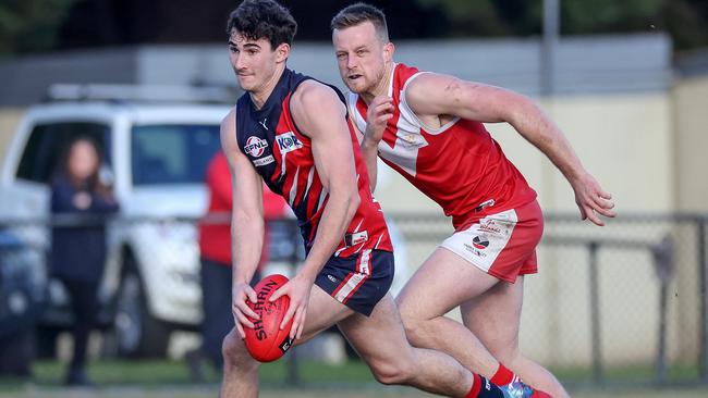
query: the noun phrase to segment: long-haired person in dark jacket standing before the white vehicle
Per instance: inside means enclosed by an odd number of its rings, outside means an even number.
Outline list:
[[[90,385],[86,346],[97,312],[106,262],[105,216],[118,211],[110,188],[99,178],[101,153],[90,138],[68,146],[51,186],[50,274],[61,281],[74,313],[74,352],[68,385]]]

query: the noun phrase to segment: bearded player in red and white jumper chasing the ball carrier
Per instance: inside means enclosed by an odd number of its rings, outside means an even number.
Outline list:
[[[371,187],[378,156],[439,203],[455,227],[396,299],[408,339],[523,396],[534,395],[528,385],[567,396],[518,350],[524,275],[537,272],[544,217],[536,192],[483,123],[509,123],[544,152],[571,184],[583,219],[601,226],[598,214],[613,217],[611,196],[527,98],[395,63],[386,17],[371,5],[343,9],[331,27]],[[444,316],[456,307],[463,324]]]

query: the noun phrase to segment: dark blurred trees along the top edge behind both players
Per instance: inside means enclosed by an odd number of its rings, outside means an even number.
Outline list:
[[[329,21],[355,0],[281,0],[297,40],[330,39]],[[542,0],[366,0],[400,39],[538,36]],[[563,35],[668,32],[679,50],[708,46],[708,0],[560,0]],[[239,0],[1,0],[0,54],[225,40]]]

